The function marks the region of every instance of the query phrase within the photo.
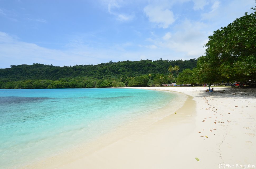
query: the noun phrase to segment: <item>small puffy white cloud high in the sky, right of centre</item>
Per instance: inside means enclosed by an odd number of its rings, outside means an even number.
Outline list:
[[[144,8],[144,13],[150,22],[157,23],[162,28],[168,28],[175,21],[173,12],[162,6],[148,5]]]

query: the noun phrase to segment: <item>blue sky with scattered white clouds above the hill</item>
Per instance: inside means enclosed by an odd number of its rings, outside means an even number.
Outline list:
[[[189,60],[255,0],[0,0],[0,68]]]

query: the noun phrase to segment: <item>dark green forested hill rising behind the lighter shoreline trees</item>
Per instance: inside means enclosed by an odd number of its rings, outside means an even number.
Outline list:
[[[20,81],[20,80],[59,80],[60,78],[90,77],[120,78],[135,77],[141,75],[164,74],[167,75],[169,66],[179,66],[179,72],[183,69],[193,69],[196,67],[197,60],[141,60],[141,61],[122,61],[108,62],[97,65],[75,65],[75,66],[53,66],[35,63],[33,65],[11,65],[11,68],[0,69],[1,81]]]

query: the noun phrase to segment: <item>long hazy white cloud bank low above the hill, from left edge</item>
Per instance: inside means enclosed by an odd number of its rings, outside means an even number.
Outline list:
[[[100,46],[100,45],[99,45]],[[157,47],[155,45],[143,46],[146,51],[126,50],[134,47],[131,42],[116,44],[112,46],[101,46],[93,48],[85,44],[81,39],[73,40],[64,45],[66,50],[56,50],[40,47],[34,43],[27,43],[0,32],[0,68],[6,68],[10,65],[20,64],[53,64],[55,66],[73,66],[75,64],[99,64],[112,60],[113,62],[124,60],[138,60],[141,55],[152,55],[158,58],[159,55],[153,55],[150,50]]]

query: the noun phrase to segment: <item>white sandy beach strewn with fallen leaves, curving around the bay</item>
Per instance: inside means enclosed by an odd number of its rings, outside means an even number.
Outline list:
[[[174,100],[184,105],[171,115],[114,142],[27,168],[256,168],[255,89],[143,89],[181,92],[188,97]]]

